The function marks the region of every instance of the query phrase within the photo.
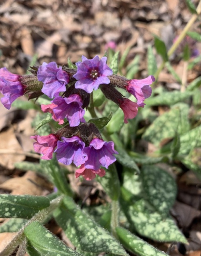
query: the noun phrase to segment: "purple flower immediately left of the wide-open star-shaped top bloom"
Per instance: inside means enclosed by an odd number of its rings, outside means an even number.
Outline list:
[[[38,80],[44,83],[42,92],[48,97],[59,96],[60,92],[66,91],[66,84],[69,82],[68,74],[56,62],[42,63],[38,69]]]

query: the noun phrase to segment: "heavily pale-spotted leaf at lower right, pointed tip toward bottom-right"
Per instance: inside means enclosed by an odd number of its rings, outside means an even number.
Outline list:
[[[125,209],[124,209],[125,210]],[[136,231],[156,241],[177,241],[187,243],[185,237],[171,217],[166,217],[150,210],[149,203],[141,199],[124,212]]]

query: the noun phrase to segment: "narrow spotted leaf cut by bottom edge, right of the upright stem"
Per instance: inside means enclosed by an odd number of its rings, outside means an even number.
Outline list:
[[[128,250],[140,256],[165,256],[166,253],[149,245],[123,227],[116,228],[120,242]]]

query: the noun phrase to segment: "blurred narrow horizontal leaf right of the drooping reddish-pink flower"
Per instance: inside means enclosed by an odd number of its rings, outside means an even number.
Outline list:
[[[183,101],[184,99],[189,98],[190,96],[191,96],[191,93],[189,92],[183,92],[183,93],[179,91],[164,92],[160,95],[146,99],[146,104],[149,106],[160,106],[160,105],[171,106],[180,101]]]

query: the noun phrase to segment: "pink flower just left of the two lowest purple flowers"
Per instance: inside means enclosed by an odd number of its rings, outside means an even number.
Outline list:
[[[42,154],[41,159],[50,160],[52,159],[53,151],[58,143],[58,137],[54,134],[49,134],[47,136],[31,136],[31,138],[35,139],[34,150],[37,153]]]

